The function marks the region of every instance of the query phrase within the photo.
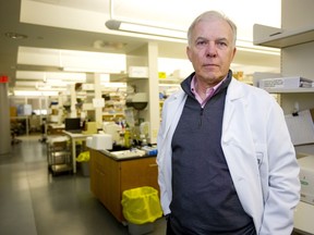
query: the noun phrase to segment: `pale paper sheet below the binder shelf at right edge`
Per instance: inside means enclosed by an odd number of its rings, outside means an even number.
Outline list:
[[[298,115],[285,115],[293,145],[314,143],[314,125],[310,110],[300,111]]]

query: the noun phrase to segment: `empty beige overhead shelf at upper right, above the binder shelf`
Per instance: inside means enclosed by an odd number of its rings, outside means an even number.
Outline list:
[[[286,48],[314,41],[314,26],[285,30],[264,25],[253,26],[253,44],[265,47]]]

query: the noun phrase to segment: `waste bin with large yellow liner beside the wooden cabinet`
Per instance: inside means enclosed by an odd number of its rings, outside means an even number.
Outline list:
[[[131,235],[154,231],[154,222],[162,217],[158,190],[149,186],[124,190],[121,203]]]

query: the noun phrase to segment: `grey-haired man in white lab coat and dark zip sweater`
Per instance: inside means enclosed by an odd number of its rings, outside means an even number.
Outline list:
[[[237,27],[201,14],[188,32],[194,73],[164,103],[158,182],[167,234],[289,235],[299,165],[281,108],[232,78]]]

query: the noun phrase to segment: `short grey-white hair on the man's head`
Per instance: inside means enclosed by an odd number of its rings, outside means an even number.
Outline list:
[[[216,18],[216,20],[222,20],[226,21],[232,30],[232,36],[233,36],[233,47],[235,47],[235,41],[237,41],[237,25],[226,15],[217,12],[217,11],[206,11],[198,15],[191,24],[188,30],[188,44],[191,46],[192,45],[192,33],[195,28],[195,25],[200,23],[201,21],[208,21],[210,18]]]

